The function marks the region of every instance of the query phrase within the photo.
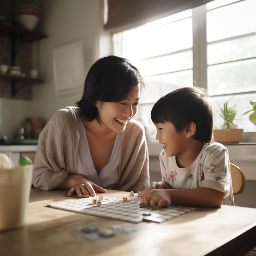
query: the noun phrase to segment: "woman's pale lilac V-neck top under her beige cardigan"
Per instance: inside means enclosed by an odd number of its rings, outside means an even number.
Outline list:
[[[78,174],[83,175],[89,181],[94,182],[98,186],[105,189],[112,189],[118,180],[118,169],[120,162],[120,148],[123,132],[117,133],[114,147],[109,162],[97,173],[94,168],[93,159],[91,157],[89,144],[86,137],[86,131],[82,118],[78,117],[78,130],[80,140],[78,146]]]

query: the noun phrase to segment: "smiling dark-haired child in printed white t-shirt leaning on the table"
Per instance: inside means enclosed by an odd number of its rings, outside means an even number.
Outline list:
[[[212,107],[207,91],[186,87],[160,98],[151,111],[157,127],[162,181],[152,182],[142,203],[169,207],[234,205],[227,149],[212,139]]]

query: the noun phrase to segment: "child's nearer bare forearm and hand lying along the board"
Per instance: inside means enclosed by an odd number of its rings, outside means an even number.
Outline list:
[[[221,207],[224,193],[211,188],[154,189],[140,196],[141,203],[169,207],[181,204],[194,207]]]

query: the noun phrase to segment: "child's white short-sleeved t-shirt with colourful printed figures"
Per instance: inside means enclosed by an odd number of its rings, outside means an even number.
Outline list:
[[[220,143],[204,143],[192,165],[177,166],[176,157],[160,154],[162,181],[171,188],[212,188],[224,192],[223,204],[234,205],[229,154]]]

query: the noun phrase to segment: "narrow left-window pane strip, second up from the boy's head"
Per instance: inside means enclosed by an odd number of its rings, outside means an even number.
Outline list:
[[[193,68],[193,53],[192,50],[189,50],[182,53],[138,61],[134,65],[140,69],[143,76],[191,69]]]

